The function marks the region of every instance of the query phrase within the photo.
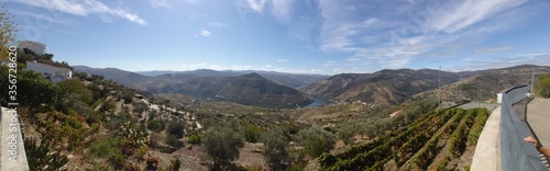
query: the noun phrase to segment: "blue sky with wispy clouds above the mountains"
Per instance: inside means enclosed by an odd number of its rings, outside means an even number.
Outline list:
[[[55,60],[143,70],[550,66],[549,0],[8,0]]]

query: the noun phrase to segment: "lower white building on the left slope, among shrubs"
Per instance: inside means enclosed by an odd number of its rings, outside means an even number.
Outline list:
[[[36,61],[26,61],[26,69],[42,73],[42,77],[54,83],[73,78],[73,71],[70,69],[40,64]]]

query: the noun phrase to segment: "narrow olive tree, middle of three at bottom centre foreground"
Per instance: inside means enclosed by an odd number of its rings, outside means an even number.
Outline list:
[[[283,170],[283,163],[289,158],[288,138],[285,132],[274,127],[262,136],[264,142],[264,158],[268,163],[273,163],[272,170]]]

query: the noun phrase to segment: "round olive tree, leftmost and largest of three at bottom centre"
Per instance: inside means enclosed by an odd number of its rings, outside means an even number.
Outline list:
[[[244,146],[239,126],[222,124],[206,130],[201,136],[205,152],[215,162],[215,169],[228,167],[231,161],[239,158],[239,149]]]

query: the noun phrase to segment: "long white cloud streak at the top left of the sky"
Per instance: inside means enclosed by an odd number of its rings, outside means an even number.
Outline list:
[[[107,14],[129,20],[140,25],[147,25],[147,22],[138,14],[124,9],[111,8],[97,0],[14,0],[20,3],[57,10],[65,13],[87,16],[89,14]]]

